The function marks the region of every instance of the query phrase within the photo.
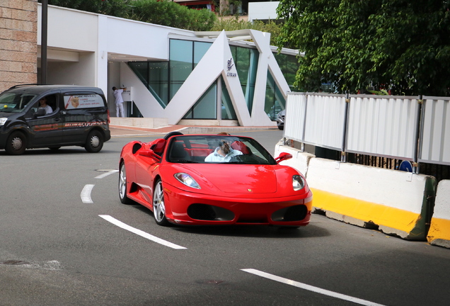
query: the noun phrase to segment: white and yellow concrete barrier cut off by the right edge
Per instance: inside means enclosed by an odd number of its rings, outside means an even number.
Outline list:
[[[437,186],[427,240],[432,245],[450,248],[450,180],[440,181]]]

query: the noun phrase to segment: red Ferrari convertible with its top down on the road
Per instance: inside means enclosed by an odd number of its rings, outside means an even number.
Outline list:
[[[304,176],[250,137],[183,135],[122,148],[119,196],[154,212],[158,225],[308,225]]]

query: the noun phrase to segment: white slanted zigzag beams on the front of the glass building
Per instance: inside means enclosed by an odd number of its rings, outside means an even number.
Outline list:
[[[255,79],[255,93],[253,96],[252,113],[248,111],[241,82],[239,81],[236,65],[231,55],[226,32],[222,31],[212,43],[202,60],[192,70],[188,79],[178,89],[166,108],[162,108],[156,99],[151,96],[142,84],[140,94],[146,94],[147,98],[137,106],[144,117],[165,117],[171,125],[178,124],[188,113],[190,108],[203,96],[214,81],[222,76],[226,89],[229,92],[234,111],[241,126],[272,126],[274,123],[265,113],[265,91],[267,85],[267,72],[272,73],[275,83],[286,99],[289,85],[279,69],[272,50],[270,49],[270,33],[262,33],[257,30],[248,30],[255,46],[258,48],[259,60]],[[129,69],[130,70],[130,69]],[[131,71],[131,70],[130,70]],[[129,76],[131,77],[131,76]],[[135,77],[135,76],[134,76]],[[138,86],[139,87],[139,86]],[[136,87],[134,90],[137,90]],[[140,88],[139,88],[140,89]],[[151,97],[149,97],[151,96]],[[138,105],[143,104],[143,105]],[[150,112],[150,113],[149,113]],[[219,118],[220,119],[220,118]]]

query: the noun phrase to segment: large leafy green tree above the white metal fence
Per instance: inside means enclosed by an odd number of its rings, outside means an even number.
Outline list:
[[[277,45],[297,48],[296,86],[449,95],[449,0],[281,0]]]

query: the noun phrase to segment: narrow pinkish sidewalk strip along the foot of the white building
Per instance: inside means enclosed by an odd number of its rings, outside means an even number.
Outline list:
[[[217,134],[218,132],[243,132],[249,130],[278,130],[277,127],[226,127],[226,126],[188,126],[167,125],[161,128],[138,128],[125,125],[110,125],[111,137],[166,135],[178,131],[183,134]]]

